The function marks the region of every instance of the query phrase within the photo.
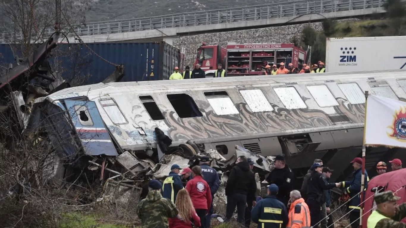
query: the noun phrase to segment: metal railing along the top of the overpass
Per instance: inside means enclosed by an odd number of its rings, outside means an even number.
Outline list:
[[[403,0],[406,2],[406,0]],[[356,9],[382,7],[385,0],[298,0],[276,4],[244,6],[230,9],[209,10],[201,12],[180,12],[177,14],[156,17],[125,19],[120,21],[92,22],[76,25],[75,30],[80,36],[136,32],[162,28],[180,28],[233,22],[247,22],[281,17],[294,17],[315,13],[331,13]],[[53,28],[46,29],[44,34],[52,34]],[[35,32],[33,31],[33,35]],[[0,41],[7,37],[22,37],[22,34],[4,32]]]

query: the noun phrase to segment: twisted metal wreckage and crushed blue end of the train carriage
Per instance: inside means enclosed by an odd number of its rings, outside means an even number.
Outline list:
[[[263,157],[238,145],[235,145],[235,154],[228,154],[225,159],[218,151],[206,151],[204,145],[192,140],[172,145],[171,138],[155,127],[153,138],[157,145],[150,143],[142,149],[125,148],[118,142],[117,132],[111,131],[114,128],[107,127],[106,118],[99,113],[95,101],[61,93],[60,90],[70,88],[70,85],[58,72],[52,71],[48,62],[52,49],[58,45],[59,36],[59,32],[52,34],[24,62],[17,61],[15,67],[0,77],[1,100],[4,102],[7,96],[11,97],[21,131],[31,139],[40,138],[50,143],[54,148],[55,154],[51,158],[54,162],[48,170],[48,179],[69,182],[77,180],[82,172],[93,172],[100,175],[104,183],[104,195],[114,195],[117,200],[125,201],[134,191],[141,194],[149,179],[164,179],[173,164],[190,167],[198,164],[202,155],[213,159],[213,167],[221,175],[220,186],[225,186],[227,175],[222,174],[231,170],[238,156],[244,155],[256,161],[257,187],[261,189],[259,175],[272,170],[273,157]],[[119,82],[123,75],[123,65],[117,65],[103,83]],[[91,91],[92,86],[87,89]],[[60,93],[52,95],[58,91]],[[106,101],[106,107],[113,107],[108,99],[102,101]],[[136,127],[136,130],[140,135],[146,134],[142,128]],[[144,139],[142,142],[148,141]],[[220,187],[217,194],[223,196],[218,197],[220,200],[225,200],[224,187]]]

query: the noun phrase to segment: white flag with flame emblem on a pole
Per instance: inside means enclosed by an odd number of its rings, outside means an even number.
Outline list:
[[[406,148],[406,102],[369,95],[365,113],[366,146]]]

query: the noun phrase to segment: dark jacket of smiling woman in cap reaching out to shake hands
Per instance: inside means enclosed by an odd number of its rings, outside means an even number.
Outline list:
[[[333,187],[335,187],[335,183],[327,183],[322,174],[314,172],[311,174],[311,177],[307,182],[306,197],[308,199],[316,199],[318,202],[322,203],[324,190],[332,189]]]

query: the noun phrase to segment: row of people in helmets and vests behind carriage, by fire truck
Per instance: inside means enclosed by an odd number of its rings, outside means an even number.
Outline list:
[[[179,67],[175,67],[175,71],[169,77],[169,80],[177,80],[177,79],[190,79],[190,78],[205,78],[206,74],[203,69],[200,68],[200,64],[196,64],[194,69],[190,71],[190,67],[186,66],[183,73],[179,73]],[[292,63],[289,63],[287,67],[285,67],[285,63],[279,63],[279,68],[276,65],[266,65],[265,70],[263,71],[263,75],[276,75],[276,74],[292,74],[292,73],[324,73],[326,72],[326,66],[324,62],[319,61],[317,64],[313,64],[309,67],[306,63],[302,65],[302,69],[298,69],[293,66]],[[223,65],[221,63],[217,64],[217,69],[214,71],[213,77],[226,77],[227,72],[223,69]]]

